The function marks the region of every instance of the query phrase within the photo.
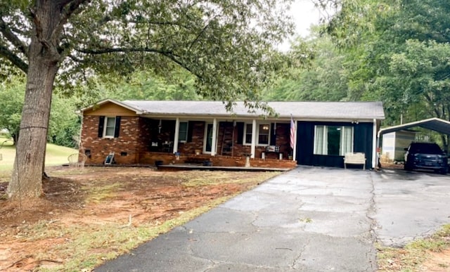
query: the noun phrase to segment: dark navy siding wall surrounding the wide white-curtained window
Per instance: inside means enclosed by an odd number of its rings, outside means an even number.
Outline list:
[[[354,152],[365,153],[366,168],[372,167],[373,124],[352,124],[352,122],[297,122],[297,164],[344,167],[343,156],[313,154],[315,125],[354,127]]]

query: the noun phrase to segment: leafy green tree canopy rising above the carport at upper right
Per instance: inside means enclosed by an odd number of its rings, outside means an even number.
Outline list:
[[[441,0],[342,1],[326,30],[353,60],[349,91],[381,98],[388,123],[450,119],[449,12]]]

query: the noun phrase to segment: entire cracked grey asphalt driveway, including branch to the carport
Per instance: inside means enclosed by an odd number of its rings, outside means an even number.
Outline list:
[[[376,271],[450,221],[450,176],[297,167],[96,271]]]

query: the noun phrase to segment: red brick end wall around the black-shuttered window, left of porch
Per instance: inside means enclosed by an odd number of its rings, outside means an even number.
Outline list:
[[[105,157],[115,153],[117,164],[135,164],[143,145],[146,127],[139,117],[121,117],[120,134],[117,138],[98,138],[99,116],[84,116],[82,125],[82,147],[80,152],[90,151],[86,164],[103,164]]]

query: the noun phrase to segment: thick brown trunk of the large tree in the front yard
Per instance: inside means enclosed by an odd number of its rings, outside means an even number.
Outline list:
[[[53,82],[58,72],[58,41],[52,35],[60,19],[57,1],[37,0],[34,35],[28,60],[25,103],[20,121],[13,176],[8,185],[12,200],[42,194],[42,166],[46,149]]]

